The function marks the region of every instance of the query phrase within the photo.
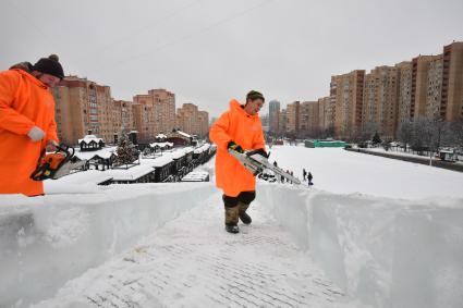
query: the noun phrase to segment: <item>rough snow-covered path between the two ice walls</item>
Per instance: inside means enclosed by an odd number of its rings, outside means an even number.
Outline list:
[[[216,195],[33,307],[362,307],[263,205],[249,214],[252,225],[227,233]]]

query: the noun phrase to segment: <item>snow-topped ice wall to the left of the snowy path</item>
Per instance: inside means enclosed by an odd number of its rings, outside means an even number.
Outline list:
[[[217,193],[212,183],[71,190],[0,196],[0,307],[51,297],[70,279]]]

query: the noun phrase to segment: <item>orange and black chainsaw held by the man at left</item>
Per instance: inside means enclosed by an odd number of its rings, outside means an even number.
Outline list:
[[[47,178],[57,180],[68,175],[72,170],[85,165],[86,160],[78,160],[74,156],[74,148],[64,144],[57,146],[54,152],[47,153],[42,151],[36,170],[31,174],[34,181],[44,181]]]

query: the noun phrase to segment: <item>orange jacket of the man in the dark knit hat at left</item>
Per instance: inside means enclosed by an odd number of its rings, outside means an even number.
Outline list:
[[[46,133],[41,141],[27,136],[34,125]],[[59,141],[48,87],[22,70],[0,72],[0,194],[44,194],[29,175],[48,140]]]

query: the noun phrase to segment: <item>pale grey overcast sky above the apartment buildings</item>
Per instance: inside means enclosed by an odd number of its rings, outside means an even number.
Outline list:
[[[0,39],[0,70],[57,53],[115,99],[166,88],[214,116],[249,89],[316,100],[331,75],[440,53],[463,1],[2,0]]]

